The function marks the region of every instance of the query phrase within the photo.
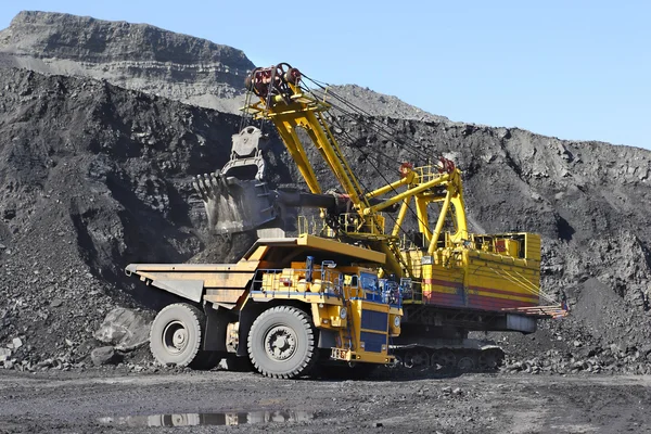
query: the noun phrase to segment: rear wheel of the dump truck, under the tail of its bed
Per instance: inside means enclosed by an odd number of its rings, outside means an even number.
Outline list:
[[[207,368],[210,354],[201,350],[204,324],[203,311],[192,305],[177,303],[166,306],[152,323],[152,355],[166,366]]]

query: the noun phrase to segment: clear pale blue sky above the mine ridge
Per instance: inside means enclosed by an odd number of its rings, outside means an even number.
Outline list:
[[[150,23],[452,120],[651,149],[651,2],[0,0]]]

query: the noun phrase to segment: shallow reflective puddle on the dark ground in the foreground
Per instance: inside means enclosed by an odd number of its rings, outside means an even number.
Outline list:
[[[221,413],[178,413],[152,416],[105,417],[98,421],[105,425],[123,426],[197,426],[243,425],[247,423],[305,422],[314,419],[308,411],[246,411]]]

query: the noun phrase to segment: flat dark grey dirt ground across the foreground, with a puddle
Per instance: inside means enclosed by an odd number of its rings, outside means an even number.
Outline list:
[[[651,432],[651,376],[0,372],[0,433]],[[178,426],[174,426],[178,425]]]

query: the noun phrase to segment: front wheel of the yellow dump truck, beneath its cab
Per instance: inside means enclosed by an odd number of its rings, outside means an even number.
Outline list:
[[[292,306],[260,314],[248,332],[248,357],[265,376],[294,379],[306,375],[317,361],[316,330],[311,318]]]

